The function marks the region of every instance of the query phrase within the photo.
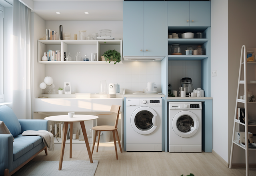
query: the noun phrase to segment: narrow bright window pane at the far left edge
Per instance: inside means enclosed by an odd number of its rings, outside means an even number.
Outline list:
[[[0,6],[0,102],[4,102],[4,7]]]

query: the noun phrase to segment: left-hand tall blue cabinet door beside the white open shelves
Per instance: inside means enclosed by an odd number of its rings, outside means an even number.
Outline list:
[[[144,2],[124,2],[123,55],[144,55]]]

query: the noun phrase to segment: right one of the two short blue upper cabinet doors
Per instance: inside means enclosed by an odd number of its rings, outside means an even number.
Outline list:
[[[211,26],[211,2],[190,2],[190,26]]]

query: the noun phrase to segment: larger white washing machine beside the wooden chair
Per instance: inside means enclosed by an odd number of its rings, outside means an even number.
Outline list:
[[[126,151],[162,151],[162,98],[126,98]]]

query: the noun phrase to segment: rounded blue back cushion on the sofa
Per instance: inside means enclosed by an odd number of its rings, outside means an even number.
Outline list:
[[[8,106],[0,106],[0,120],[4,122],[13,137],[21,133],[21,126],[13,110]]]

